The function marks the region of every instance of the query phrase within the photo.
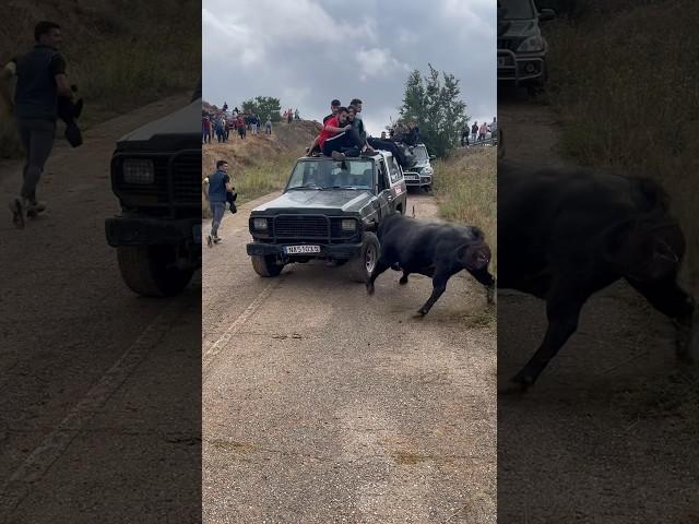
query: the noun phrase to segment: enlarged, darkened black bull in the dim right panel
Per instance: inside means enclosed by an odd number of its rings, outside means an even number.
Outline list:
[[[654,182],[592,170],[498,163],[500,288],[546,300],[548,327],[512,379],[533,384],[578,329],[585,301],[624,278],[678,329],[690,360],[694,299],[677,284],[685,238]]]

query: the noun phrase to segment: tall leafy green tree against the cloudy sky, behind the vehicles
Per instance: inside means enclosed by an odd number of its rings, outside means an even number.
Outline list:
[[[430,154],[447,155],[459,143],[461,130],[469,122],[466,104],[460,99],[459,79],[429,66],[423,78],[413,71],[405,82],[403,105],[399,108],[403,122],[414,121]]]

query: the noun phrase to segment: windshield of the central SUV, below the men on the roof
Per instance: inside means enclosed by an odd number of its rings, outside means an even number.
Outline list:
[[[371,189],[374,160],[357,158],[344,162],[298,160],[289,178],[292,189]]]

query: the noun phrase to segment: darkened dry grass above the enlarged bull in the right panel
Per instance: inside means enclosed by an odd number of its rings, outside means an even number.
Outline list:
[[[621,167],[668,191],[688,240],[683,278],[699,293],[699,63],[689,52],[699,4],[643,3],[550,26],[550,100],[577,163]]]

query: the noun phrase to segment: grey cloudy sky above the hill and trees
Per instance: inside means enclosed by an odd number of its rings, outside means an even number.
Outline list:
[[[398,116],[407,74],[428,63],[461,81],[473,120],[496,115],[493,0],[203,0],[203,95],[258,95],[321,120],[330,100],[364,102],[368,131]]]

